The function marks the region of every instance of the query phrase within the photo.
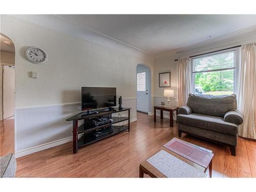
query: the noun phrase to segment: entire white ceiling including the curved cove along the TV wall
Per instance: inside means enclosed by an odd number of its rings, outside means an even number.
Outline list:
[[[256,29],[256,15],[11,16],[132,55],[159,55]]]

